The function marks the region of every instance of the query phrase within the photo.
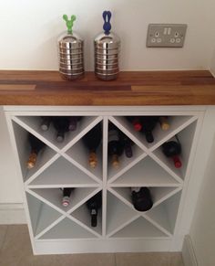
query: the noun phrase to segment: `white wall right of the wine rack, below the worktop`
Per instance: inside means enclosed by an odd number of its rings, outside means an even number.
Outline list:
[[[199,199],[190,228],[190,239],[199,266],[215,265],[215,108],[211,107],[206,119],[209,122],[205,142],[210,144],[210,158],[201,184]],[[203,156],[203,154],[202,154]]]

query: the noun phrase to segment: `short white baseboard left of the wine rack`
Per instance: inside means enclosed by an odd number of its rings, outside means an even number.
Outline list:
[[[26,214],[23,204],[0,204],[0,224],[26,224]]]

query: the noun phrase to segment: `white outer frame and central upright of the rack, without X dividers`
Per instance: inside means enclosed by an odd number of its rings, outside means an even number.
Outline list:
[[[28,211],[28,205],[26,200],[26,191],[28,190],[27,186],[23,186],[23,197],[24,197],[24,206],[26,209],[26,218],[28,229],[30,233],[30,238],[35,254],[45,254],[45,253],[71,253],[71,252],[104,252],[104,251],[167,251],[167,250],[179,250],[179,247],[182,245],[181,236],[183,236],[184,229],[180,227],[180,224],[183,222],[183,207],[186,204],[185,198],[187,198],[189,190],[189,178],[191,176],[191,167],[195,157],[195,151],[197,149],[198,138],[200,135],[200,128],[203,121],[203,116],[205,112],[204,106],[149,106],[149,107],[128,107],[128,106],[107,106],[107,107],[91,107],[91,106],[5,106],[5,116],[7,120],[7,125],[10,133],[11,142],[13,144],[13,149],[15,153],[15,163],[17,166],[17,171],[20,176],[20,182],[23,183],[22,172],[19,165],[18,151],[15,144],[15,133],[12,125],[13,117],[17,116],[48,116],[48,115],[80,115],[80,116],[102,116],[104,122],[105,132],[103,137],[107,137],[107,120],[108,117],[115,116],[126,116],[126,115],[171,115],[171,116],[195,116],[197,117],[196,130],[193,135],[192,147],[189,156],[189,163],[187,174],[185,180],[182,182],[182,195],[179,203],[179,212],[176,219],[176,225],[173,235],[169,235],[167,238],[108,238],[107,237],[107,191],[111,190],[112,186],[109,186],[107,183],[107,142],[103,144],[103,182],[98,185],[104,191],[104,205],[103,214],[102,214],[102,235],[97,239],[36,239],[34,237],[33,229],[31,226],[31,219]],[[121,248],[118,248],[118,243],[125,241]],[[134,244],[136,241],[136,244]],[[66,247],[66,243],[70,242],[70,248]],[[75,243],[79,243],[80,247],[75,248]],[[89,243],[95,243],[95,249],[90,248]],[[50,245],[51,243],[51,245]],[[141,244],[141,249],[138,248],[137,243]],[[147,244],[148,243],[148,244]],[[151,243],[151,244],[149,244]],[[154,243],[154,246],[153,244]],[[174,245],[172,245],[174,243]],[[61,245],[62,244],[62,245]],[[61,245],[61,248],[60,248]],[[107,250],[103,250],[100,247],[108,246]],[[132,248],[132,245],[136,248]],[[50,248],[48,248],[48,246]],[[148,247],[149,250],[148,250]],[[43,247],[43,248],[42,248]],[[58,248],[57,248],[58,247]],[[64,247],[64,248],[62,248]],[[43,250],[44,249],[44,250]],[[57,250],[58,249],[58,250]]]

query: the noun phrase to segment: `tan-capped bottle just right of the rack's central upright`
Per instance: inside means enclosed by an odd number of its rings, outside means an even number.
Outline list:
[[[115,168],[119,166],[118,157],[123,153],[123,144],[119,139],[118,128],[112,124],[108,124],[108,155],[111,157],[111,165]]]

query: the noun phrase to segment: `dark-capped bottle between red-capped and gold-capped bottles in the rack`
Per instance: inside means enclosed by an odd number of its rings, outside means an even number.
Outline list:
[[[141,122],[142,122],[141,132],[145,134],[146,140],[149,144],[154,142],[154,136],[152,131],[156,127],[158,120],[159,120],[158,116],[141,117]]]

